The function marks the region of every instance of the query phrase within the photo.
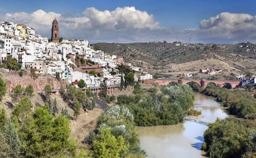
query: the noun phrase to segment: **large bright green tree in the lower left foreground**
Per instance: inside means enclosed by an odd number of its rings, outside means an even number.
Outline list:
[[[20,128],[24,157],[75,157],[75,142],[70,141],[69,120],[54,118],[47,109],[36,107],[32,120]]]

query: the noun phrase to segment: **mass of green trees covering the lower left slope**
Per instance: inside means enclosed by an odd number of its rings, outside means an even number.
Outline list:
[[[46,102],[43,107],[35,107],[28,94],[33,87],[18,85],[13,93],[20,94],[20,101],[14,106],[11,117],[0,109],[0,157],[85,157],[77,152],[75,141],[70,139],[69,120],[65,115],[53,115]],[[12,94],[13,95],[13,94]],[[58,113],[54,100],[54,114]],[[35,110],[32,108],[35,107]]]

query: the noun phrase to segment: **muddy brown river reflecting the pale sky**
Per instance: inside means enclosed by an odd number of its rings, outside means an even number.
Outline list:
[[[202,123],[186,120],[178,125],[136,127],[140,146],[147,152],[148,158],[205,157],[205,152],[200,150],[203,132],[208,128],[205,123],[228,115],[215,98],[200,93],[194,93],[194,96],[194,109],[202,112],[202,118],[198,118]]]

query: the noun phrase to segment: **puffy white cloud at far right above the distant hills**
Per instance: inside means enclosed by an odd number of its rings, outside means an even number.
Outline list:
[[[256,16],[223,12],[200,22],[200,33],[212,40],[237,43],[256,39]],[[200,36],[199,36],[200,37]],[[204,39],[202,37],[202,39]]]

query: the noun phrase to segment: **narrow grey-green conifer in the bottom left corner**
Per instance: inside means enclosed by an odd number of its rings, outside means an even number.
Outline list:
[[[15,130],[14,125],[12,125],[11,120],[8,121],[7,123],[7,128],[6,128],[6,139],[7,143],[9,144],[10,147],[10,152],[9,155],[10,157],[19,157],[20,155],[20,139],[18,136],[17,131]]]

